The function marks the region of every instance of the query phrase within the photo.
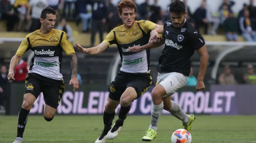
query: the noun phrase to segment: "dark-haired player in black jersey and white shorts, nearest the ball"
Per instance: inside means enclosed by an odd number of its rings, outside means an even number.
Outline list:
[[[134,46],[128,49],[132,52],[155,48],[165,43],[164,50],[159,58],[159,73],[156,87],[152,90],[153,109],[151,124],[143,141],[152,141],[157,136],[157,123],[163,109],[182,121],[184,129],[191,131],[191,123],[195,120],[193,114],[187,115],[174,101],[171,95],[186,85],[190,73],[190,57],[196,50],[200,55],[200,70],[197,90],[205,89],[203,78],[208,64],[208,53],[203,37],[193,26],[186,21],[185,5],[180,0],[170,3],[171,19],[164,23],[163,35],[160,43],[151,42],[144,46]],[[152,31],[154,32],[154,31]]]

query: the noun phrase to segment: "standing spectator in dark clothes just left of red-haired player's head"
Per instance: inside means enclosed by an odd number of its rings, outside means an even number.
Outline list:
[[[96,0],[91,2],[92,5],[92,34],[91,47],[94,47],[95,35],[97,31],[100,33],[100,43],[103,41],[104,25],[107,18],[107,7],[104,0]]]

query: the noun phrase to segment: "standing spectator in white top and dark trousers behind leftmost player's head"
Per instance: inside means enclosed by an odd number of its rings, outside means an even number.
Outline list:
[[[41,28],[40,14],[45,7],[48,7],[48,2],[46,0],[30,0],[29,1],[29,7],[27,11],[27,21],[28,21],[28,26],[30,27],[30,32],[34,32]]]

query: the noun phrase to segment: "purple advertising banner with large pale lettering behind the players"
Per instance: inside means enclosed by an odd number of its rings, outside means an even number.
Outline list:
[[[109,94],[107,88],[107,85],[80,85],[79,91],[73,92],[73,87],[67,85],[56,114],[103,114]],[[153,88],[154,86],[150,87],[143,96],[131,103],[129,114],[151,114],[151,91]],[[12,107],[12,114],[17,114],[22,104],[24,85],[16,85],[13,89],[16,89],[16,97],[13,101],[16,104],[15,109]],[[203,91],[196,91],[195,87],[185,86],[177,90],[171,99],[177,102],[186,113],[256,114],[256,106],[253,104],[256,99],[256,96],[253,95],[255,92],[255,85],[211,85],[206,86]],[[44,104],[43,93],[41,93],[30,110],[30,114],[43,114]],[[119,108],[120,105],[116,109],[116,113]],[[170,113],[163,110],[163,114]]]

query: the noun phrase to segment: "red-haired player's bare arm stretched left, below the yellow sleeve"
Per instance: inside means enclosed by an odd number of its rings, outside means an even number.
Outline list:
[[[108,44],[105,42],[102,42],[98,46],[92,47],[92,48],[84,48],[81,45],[79,45],[78,43],[75,43],[75,45],[77,46],[77,49],[79,51],[84,52],[85,54],[89,54],[89,55],[98,55],[98,54],[102,53],[104,50],[106,50],[106,48],[108,48]]]

